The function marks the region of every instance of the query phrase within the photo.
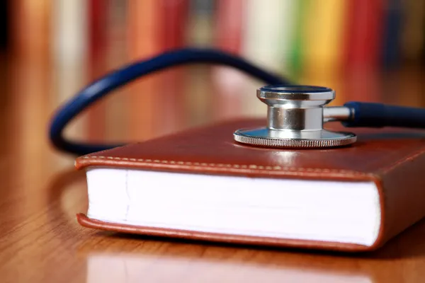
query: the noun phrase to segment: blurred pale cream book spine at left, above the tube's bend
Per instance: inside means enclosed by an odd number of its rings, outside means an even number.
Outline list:
[[[60,105],[72,98],[87,81],[88,50],[88,4],[85,0],[52,1],[52,67],[55,69],[55,96],[52,100]],[[67,127],[73,139],[87,139],[88,112]],[[69,163],[64,158],[64,163]]]

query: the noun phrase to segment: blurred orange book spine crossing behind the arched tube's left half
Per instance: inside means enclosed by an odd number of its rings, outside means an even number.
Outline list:
[[[128,53],[130,62],[147,59],[158,54],[160,47],[161,14],[157,0],[128,0]],[[158,98],[156,76],[147,76],[130,85],[127,93],[127,125],[130,140],[154,137],[154,116],[161,105]],[[158,98],[156,100],[155,98]]]

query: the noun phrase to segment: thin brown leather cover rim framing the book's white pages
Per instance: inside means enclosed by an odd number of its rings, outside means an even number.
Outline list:
[[[88,158],[87,158],[88,159]],[[186,173],[196,173],[193,171],[193,168],[186,168],[185,165],[179,164],[179,169],[183,168],[183,170],[174,170],[174,168],[167,167],[164,169],[164,163],[156,164],[157,166],[149,166],[149,164],[144,164],[141,161],[138,161],[137,164],[132,163],[134,161],[125,161],[121,166],[116,166],[116,161],[113,160],[113,162],[108,163],[108,161],[96,161],[96,158],[90,159],[89,163],[85,162],[84,166],[81,166],[80,169],[89,169],[93,167],[113,167],[113,168],[132,168],[132,169],[139,169],[143,170],[146,167],[147,170],[154,170],[154,171],[171,171],[171,172],[185,172]],[[130,165],[128,165],[130,163]],[[166,164],[165,164],[166,165]],[[202,167],[202,166],[201,166]],[[208,173],[205,171],[205,167],[202,167],[203,171],[202,173]],[[236,168],[234,168],[236,169]],[[361,251],[367,251],[367,250],[375,250],[376,248],[379,248],[382,246],[388,237],[386,237],[383,233],[385,232],[385,229],[383,227],[384,221],[382,221],[384,217],[384,203],[383,203],[383,191],[382,191],[382,184],[380,181],[380,178],[375,175],[371,174],[359,174],[360,177],[357,178],[357,175],[344,175],[340,173],[324,173],[324,172],[308,172],[310,175],[307,177],[305,176],[306,172],[303,172],[302,175],[300,174],[290,174],[291,172],[285,172],[285,171],[276,171],[274,172],[274,175],[271,175],[270,172],[266,173],[262,171],[260,168],[246,168],[243,170],[244,173],[241,173],[241,168],[238,168],[237,170],[233,172],[228,172],[229,168],[226,169],[225,173],[230,175],[251,175],[251,176],[257,176],[257,177],[267,177],[267,178],[273,178],[273,176],[276,178],[297,178],[302,180],[307,179],[313,179],[313,180],[345,180],[350,182],[356,182],[356,181],[372,181],[375,183],[375,186],[377,187],[378,194],[379,194],[379,202],[380,202],[380,230],[378,232],[378,237],[376,241],[373,243],[372,246],[363,246],[360,244],[353,244],[353,243],[336,243],[336,242],[328,242],[328,241],[309,241],[309,240],[295,240],[295,239],[288,239],[288,238],[270,238],[270,237],[261,237],[261,236],[244,236],[244,235],[229,235],[229,234],[220,234],[220,233],[210,233],[210,232],[200,232],[200,231],[183,231],[179,229],[164,229],[164,228],[154,228],[154,227],[143,227],[143,226],[134,226],[134,225],[128,225],[128,224],[118,224],[118,223],[111,223],[106,221],[100,221],[97,219],[90,219],[85,214],[78,214],[77,220],[79,221],[79,224],[81,226],[86,226],[92,229],[102,229],[106,231],[116,231],[116,232],[123,232],[123,233],[135,233],[135,234],[141,234],[141,235],[147,235],[147,236],[162,236],[162,237],[171,237],[171,238],[185,238],[185,239],[194,239],[194,240],[200,240],[200,241],[215,241],[215,242],[222,242],[222,243],[239,243],[239,244],[247,244],[247,245],[260,245],[260,246],[276,246],[276,247],[293,247],[293,248],[311,248],[311,249],[327,249],[327,250],[339,250],[339,251],[347,251],[347,252],[361,252]],[[215,172],[220,173],[220,172]],[[292,172],[294,173],[294,172]],[[227,175],[226,174],[226,175]],[[337,176],[335,176],[335,174]],[[222,174],[220,174],[222,175]]]

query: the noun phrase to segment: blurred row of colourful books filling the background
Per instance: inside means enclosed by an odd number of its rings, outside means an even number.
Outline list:
[[[50,85],[32,92],[39,93],[35,103],[48,103],[49,113],[108,71],[186,46],[217,47],[297,83],[329,86],[337,93],[334,105],[425,105],[425,0],[4,3],[2,45],[11,59],[48,74]],[[96,103],[69,134],[142,140],[205,122],[264,116],[255,97],[261,84],[226,67],[162,71]]]

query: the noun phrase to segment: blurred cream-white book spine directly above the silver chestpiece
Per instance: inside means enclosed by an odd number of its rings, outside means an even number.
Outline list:
[[[295,1],[249,0],[244,1],[244,40],[242,55],[251,62],[281,74],[286,69],[290,56],[291,30],[294,25]],[[262,103],[259,103],[253,90],[263,82],[246,83],[244,109],[251,115],[264,115]]]

